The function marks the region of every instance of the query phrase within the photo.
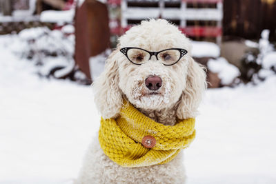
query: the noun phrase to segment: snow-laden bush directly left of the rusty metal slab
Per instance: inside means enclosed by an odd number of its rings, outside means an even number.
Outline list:
[[[1,37],[1,43],[18,57],[29,58],[37,66],[37,73],[48,76],[54,68],[63,68],[53,74],[59,78],[74,67],[75,35],[73,26],[66,25],[61,30],[30,28],[19,34]]]

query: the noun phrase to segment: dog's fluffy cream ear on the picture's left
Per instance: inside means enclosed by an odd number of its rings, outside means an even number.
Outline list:
[[[117,52],[119,52],[119,46],[110,54],[103,72],[92,85],[94,101],[104,119],[115,118],[121,110],[122,97],[119,89]]]

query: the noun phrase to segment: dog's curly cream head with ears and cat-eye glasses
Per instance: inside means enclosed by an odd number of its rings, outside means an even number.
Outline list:
[[[190,56],[190,49],[184,34],[163,19],[130,28],[93,85],[103,118],[118,116],[124,97],[136,108],[176,108],[179,119],[194,117],[206,88],[206,74]]]

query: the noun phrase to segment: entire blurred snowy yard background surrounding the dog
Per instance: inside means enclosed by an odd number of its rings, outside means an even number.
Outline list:
[[[0,183],[72,183],[99,127],[90,84],[150,18],[207,68],[188,183],[276,183],[275,17],[275,0],[0,0]]]

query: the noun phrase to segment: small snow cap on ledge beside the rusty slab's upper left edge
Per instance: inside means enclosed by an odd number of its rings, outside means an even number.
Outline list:
[[[40,21],[50,23],[71,23],[75,16],[75,9],[57,11],[57,10],[46,10],[41,12]]]

